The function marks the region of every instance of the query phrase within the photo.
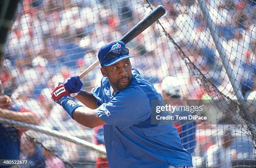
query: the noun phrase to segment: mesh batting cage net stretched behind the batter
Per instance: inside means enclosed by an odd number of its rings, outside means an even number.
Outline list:
[[[51,92],[157,5],[166,14],[127,44],[133,68],[166,104],[193,113],[192,120],[173,122],[195,168],[255,167],[253,0],[20,1],[0,73],[1,101],[9,101],[0,102],[0,154],[18,151],[16,159],[31,167],[108,167],[102,127],[72,120]],[[97,66],[82,78],[83,89],[91,91],[101,78]]]

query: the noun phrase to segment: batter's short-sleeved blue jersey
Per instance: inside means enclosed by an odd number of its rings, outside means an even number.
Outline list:
[[[162,102],[162,97],[136,69],[126,89],[112,95],[104,77],[92,95],[99,106],[97,115],[108,124],[104,140],[111,168],[193,166],[172,123],[151,124],[151,99]]]

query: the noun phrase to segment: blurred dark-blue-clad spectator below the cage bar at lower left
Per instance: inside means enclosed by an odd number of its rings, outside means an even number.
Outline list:
[[[28,132],[23,135],[20,140],[20,150],[22,154],[21,160],[28,160],[26,165],[21,165],[21,168],[45,168],[45,158],[41,152],[41,147],[34,141],[35,135]]]

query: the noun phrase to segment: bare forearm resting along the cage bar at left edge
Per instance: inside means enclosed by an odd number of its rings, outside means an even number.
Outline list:
[[[31,112],[14,112],[8,109],[0,108],[0,117],[20,122],[26,122],[28,124],[39,124],[38,118]]]

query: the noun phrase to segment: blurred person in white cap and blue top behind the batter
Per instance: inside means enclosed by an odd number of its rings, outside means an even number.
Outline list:
[[[161,84],[162,97],[166,101],[167,105],[181,106],[182,102],[182,90],[180,88],[181,82],[179,79],[173,76],[166,76]],[[188,111],[176,111],[173,114],[189,115]],[[195,130],[196,125],[194,120],[175,120],[174,126],[177,128],[181,143],[189,153],[194,153],[195,150]]]

